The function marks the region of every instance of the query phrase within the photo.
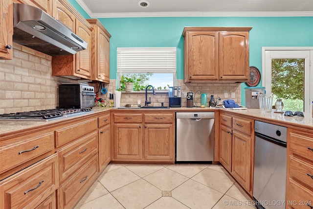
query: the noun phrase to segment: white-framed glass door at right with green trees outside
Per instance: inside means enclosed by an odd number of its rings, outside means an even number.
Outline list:
[[[309,49],[309,50],[308,50]],[[262,84],[266,93],[282,98],[284,110],[312,113],[313,50],[309,47],[263,47]],[[311,56],[311,58],[310,58]],[[276,97],[275,97],[276,96]]]

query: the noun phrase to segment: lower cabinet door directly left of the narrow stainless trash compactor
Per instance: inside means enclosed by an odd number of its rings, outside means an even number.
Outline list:
[[[251,138],[233,131],[231,174],[247,191],[250,190]]]

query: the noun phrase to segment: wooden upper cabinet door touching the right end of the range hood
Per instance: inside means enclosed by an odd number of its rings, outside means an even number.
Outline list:
[[[76,73],[90,78],[91,66],[91,31],[86,25],[76,19],[76,34],[88,43],[87,49],[76,53]]]

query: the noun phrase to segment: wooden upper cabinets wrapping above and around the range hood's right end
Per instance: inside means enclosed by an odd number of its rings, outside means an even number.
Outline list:
[[[52,57],[52,75],[68,78],[85,78],[91,76],[91,25],[66,1],[54,2],[54,17],[75,32],[88,43],[87,49],[75,55]]]

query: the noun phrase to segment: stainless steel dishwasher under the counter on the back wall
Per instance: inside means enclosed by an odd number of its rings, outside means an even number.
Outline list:
[[[176,163],[212,163],[214,113],[176,113]]]

